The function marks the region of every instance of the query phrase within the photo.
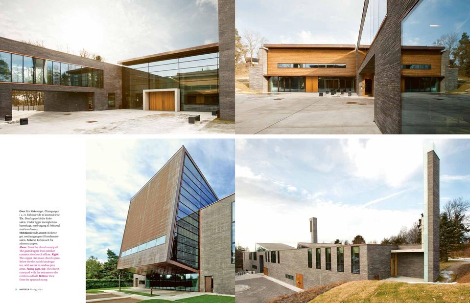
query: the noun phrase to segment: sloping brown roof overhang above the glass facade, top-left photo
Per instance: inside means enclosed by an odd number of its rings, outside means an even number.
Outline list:
[[[184,57],[189,57],[189,56],[210,54],[210,53],[214,53],[218,51],[219,51],[219,43],[211,43],[211,44],[199,45],[199,46],[194,46],[194,47],[189,47],[189,48],[183,48],[179,50],[172,50],[172,51],[154,54],[154,55],[148,55],[148,56],[143,56],[143,57],[122,60],[122,61],[119,61],[118,64],[129,66],[129,65],[136,65],[136,64],[142,64],[142,63],[148,63],[148,62],[154,62],[154,61],[167,60],[167,59],[176,59],[176,58],[184,58]]]

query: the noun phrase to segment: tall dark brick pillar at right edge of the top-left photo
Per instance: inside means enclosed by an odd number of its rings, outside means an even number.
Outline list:
[[[218,0],[220,118],[235,121],[235,0]]]

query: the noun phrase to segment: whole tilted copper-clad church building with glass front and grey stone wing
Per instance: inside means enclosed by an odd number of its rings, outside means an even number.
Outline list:
[[[118,269],[135,286],[233,294],[234,203],[183,146],[131,198]]]

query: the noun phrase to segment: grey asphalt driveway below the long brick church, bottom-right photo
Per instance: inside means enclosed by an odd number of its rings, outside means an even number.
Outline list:
[[[237,284],[247,285],[250,288],[236,292],[235,302],[260,303],[282,295],[295,293],[295,291],[264,277],[235,281],[235,285]]]

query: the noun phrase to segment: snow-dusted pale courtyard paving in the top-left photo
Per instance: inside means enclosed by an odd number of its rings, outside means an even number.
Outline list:
[[[188,123],[198,114],[201,121]],[[27,117],[28,125],[19,119]],[[205,134],[235,133],[235,123],[210,112],[167,112],[139,109],[52,112],[14,111],[13,121],[0,120],[0,134]]]

